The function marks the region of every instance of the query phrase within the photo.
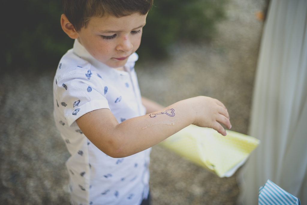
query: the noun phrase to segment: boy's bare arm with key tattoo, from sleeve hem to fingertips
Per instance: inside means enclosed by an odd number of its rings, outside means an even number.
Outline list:
[[[164,113],[158,114],[160,112]],[[220,123],[231,128],[225,106],[204,96],[179,101],[154,114],[119,124],[109,109],[99,109],[84,114],[76,122],[98,149],[115,158],[148,149],[190,124],[210,127],[223,135],[226,131]]]

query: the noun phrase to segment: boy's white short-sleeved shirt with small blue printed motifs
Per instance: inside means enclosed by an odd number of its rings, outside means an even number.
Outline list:
[[[83,114],[110,109],[119,123],[146,114],[133,53],[118,71],[99,62],[75,41],[60,60],[53,85],[54,119],[71,157],[66,162],[72,204],[138,205],[149,191],[150,149],[124,158],[100,151],[75,122]]]

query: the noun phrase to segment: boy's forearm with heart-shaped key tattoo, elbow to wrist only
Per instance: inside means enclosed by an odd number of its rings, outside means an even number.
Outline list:
[[[127,156],[148,149],[179,130],[193,123],[193,109],[187,100],[179,101],[167,108],[131,118],[117,126],[119,151]],[[127,139],[127,140],[125,140]],[[125,142],[125,143],[120,143]]]

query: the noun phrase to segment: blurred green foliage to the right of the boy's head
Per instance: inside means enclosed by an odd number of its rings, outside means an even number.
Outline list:
[[[210,40],[216,33],[216,22],[225,17],[225,3],[226,0],[154,0],[137,53],[141,57],[162,57],[175,41]]]

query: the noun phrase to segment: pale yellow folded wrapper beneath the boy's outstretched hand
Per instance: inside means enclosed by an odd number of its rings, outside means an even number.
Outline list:
[[[226,130],[223,136],[211,128],[190,125],[160,144],[219,177],[231,176],[260,143],[254,137]]]

